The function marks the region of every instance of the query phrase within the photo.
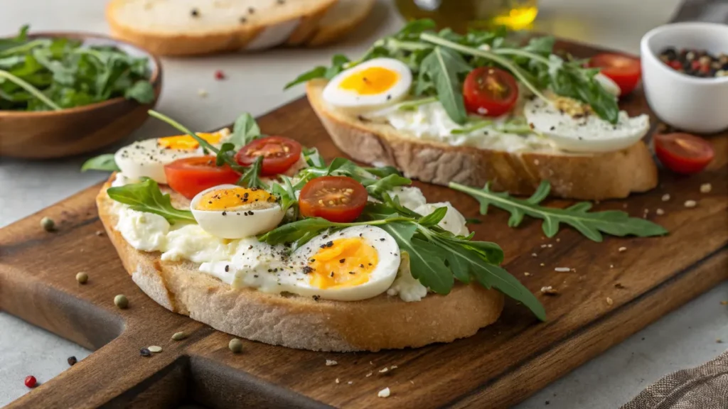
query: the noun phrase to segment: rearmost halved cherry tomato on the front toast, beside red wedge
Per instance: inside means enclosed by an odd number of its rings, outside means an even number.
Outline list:
[[[263,156],[261,175],[280,175],[301,158],[301,144],[282,136],[266,136],[240,148],[235,160],[243,166],[250,166],[258,156]]]

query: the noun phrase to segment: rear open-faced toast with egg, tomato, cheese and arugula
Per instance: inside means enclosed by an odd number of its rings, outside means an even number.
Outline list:
[[[649,116],[620,111],[619,85],[598,68],[553,54],[551,37],[518,47],[504,33],[433,27],[409,23],[360,59],[336,55],[288,87],[307,82],[342,151],[408,178],[513,194],[546,180],[555,196],[576,199],[657,185],[641,141]]]

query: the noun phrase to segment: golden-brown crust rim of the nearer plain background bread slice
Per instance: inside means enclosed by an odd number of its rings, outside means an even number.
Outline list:
[[[106,21],[115,38],[137,44],[155,55],[189,56],[205,55],[218,52],[232,52],[244,49],[266,28],[282,24],[293,19],[300,19],[293,32],[281,44],[288,41],[300,42],[310,36],[317,27],[318,21],[325,12],[336,4],[336,0],[320,0],[317,4],[306,9],[302,15],[282,16],[271,20],[266,25],[240,25],[234,28],[222,28],[218,31],[205,33],[167,33],[155,31],[141,31],[124,24],[116,18],[116,10],[123,6],[122,0],[112,0],[106,6]],[[275,44],[279,45],[279,44]]]

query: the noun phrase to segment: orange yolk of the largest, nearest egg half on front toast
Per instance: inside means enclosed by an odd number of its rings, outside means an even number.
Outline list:
[[[309,260],[310,284],[322,290],[355,287],[369,281],[378,262],[376,249],[365,239],[336,239],[323,245]]]

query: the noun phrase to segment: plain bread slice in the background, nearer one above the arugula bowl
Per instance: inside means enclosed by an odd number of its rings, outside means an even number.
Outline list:
[[[264,49],[307,38],[336,0],[111,0],[114,37],[157,55]]]

